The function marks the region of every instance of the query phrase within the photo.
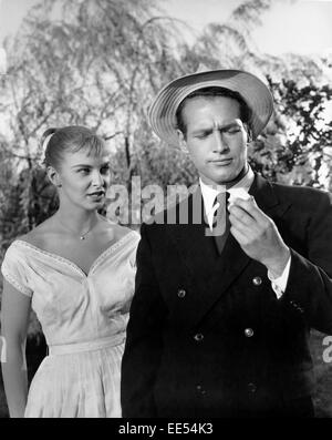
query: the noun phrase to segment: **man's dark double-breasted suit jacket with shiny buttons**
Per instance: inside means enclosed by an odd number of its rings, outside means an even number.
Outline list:
[[[218,257],[193,215],[143,224],[123,417],[255,417],[310,396],[310,328],[332,334],[331,196],[258,175],[250,193],[291,249],[284,294],[231,235]]]

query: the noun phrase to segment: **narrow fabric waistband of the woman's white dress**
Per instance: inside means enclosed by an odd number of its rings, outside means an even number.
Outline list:
[[[49,346],[49,355],[71,355],[74,352],[94,351],[101,350],[102,348],[115,347],[125,341],[125,332],[121,332],[105,338],[87,340],[84,342],[73,344],[56,344]]]

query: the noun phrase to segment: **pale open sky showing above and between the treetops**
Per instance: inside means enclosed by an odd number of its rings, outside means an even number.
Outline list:
[[[0,0],[0,45],[14,34],[37,0]],[[164,10],[197,32],[209,22],[224,22],[242,0],[162,0]],[[253,38],[261,52],[301,54],[332,52],[332,0],[274,0]]]

